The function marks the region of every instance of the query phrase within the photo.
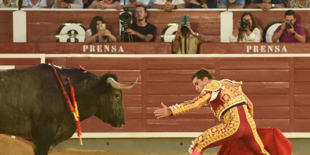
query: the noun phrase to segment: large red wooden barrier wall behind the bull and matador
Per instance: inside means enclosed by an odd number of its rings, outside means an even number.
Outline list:
[[[4,59],[3,59],[4,60]],[[20,61],[1,65],[14,65]],[[101,76],[116,73],[120,82],[139,77],[138,84],[123,91],[127,117],[120,132],[202,132],[219,124],[209,106],[176,117],[157,119],[153,111],[193,99],[198,93],[191,76],[209,69],[215,79],[242,81],[252,100],[257,127],[278,127],[282,132],[310,132],[310,65],[308,57],[257,58],[95,58],[49,57],[46,62],[66,67],[85,66]],[[8,63],[11,62],[11,63]],[[37,60],[34,60],[37,64]],[[82,122],[83,132],[115,132],[96,117]]]

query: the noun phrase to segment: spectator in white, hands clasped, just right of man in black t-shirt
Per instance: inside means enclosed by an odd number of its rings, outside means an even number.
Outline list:
[[[154,0],[154,4],[151,6],[151,9],[162,9],[165,11],[185,8],[184,0]]]

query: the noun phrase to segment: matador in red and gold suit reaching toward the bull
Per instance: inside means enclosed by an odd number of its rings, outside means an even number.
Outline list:
[[[190,112],[204,105],[210,104],[214,116],[224,122],[211,127],[192,141],[189,148],[190,155],[202,155],[206,148],[222,145],[239,139],[254,155],[270,155],[256,131],[253,119],[253,104],[242,92],[242,82],[223,79],[214,80],[212,74],[206,69],[198,70],[192,76],[196,90],[201,92],[193,100],[185,101],[167,107],[161,103],[162,108],[154,111],[157,118],[176,116]]]

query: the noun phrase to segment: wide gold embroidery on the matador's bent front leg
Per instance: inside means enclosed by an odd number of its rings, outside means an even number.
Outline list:
[[[240,117],[238,109],[237,107],[234,107],[224,114],[224,123],[221,123],[208,129],[202,135],[193,140],[192,141],[193,145],[191,145],[188,151],[190,153],[192,153],[193,151],[199,153],[206,146],[214,142],[217,142],[221,139],[225,139],[236,133],[239,126],[240,126]],[[197,147],[193,150],[195,145],[197,145]]]

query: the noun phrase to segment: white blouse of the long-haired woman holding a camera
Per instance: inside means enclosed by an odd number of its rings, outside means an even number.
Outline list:
[[[259,28],[255,28],[250,35],[247,35],[245,32],[241,32],[241,33],[244,33],[244,35],[243,35],[243,38],[240,42],[260,42],[261,37],[262,37],[260,32],[261,31]],[[235,37],[235,36],[233,36],[233,34],[230,34],[229,41],[230,42],[237,42],[238,36]]]

